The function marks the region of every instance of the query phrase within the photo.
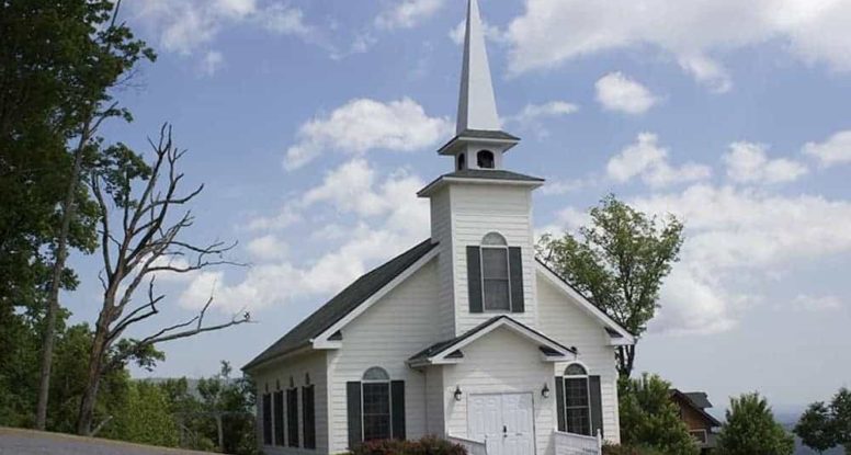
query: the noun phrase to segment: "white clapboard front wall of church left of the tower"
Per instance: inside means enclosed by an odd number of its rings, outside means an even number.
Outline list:
[[[330,452],[348,446],[345,383],[371,366],[405,380],[406,432],[426,435],[426,375],[406,361],[440,341],[438,268],[432,260],[342,329],[342,348],[329,354]]]

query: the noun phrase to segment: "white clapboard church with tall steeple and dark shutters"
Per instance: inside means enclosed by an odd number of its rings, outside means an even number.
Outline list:
[[[454,170],[417,195],[431,238],[358,278],[242,369],[266,454],[436,435],[475,455],[599,454],[620,441],[615,350],[634,337],[535,259],[532,192],[506,170],[476,0]]]

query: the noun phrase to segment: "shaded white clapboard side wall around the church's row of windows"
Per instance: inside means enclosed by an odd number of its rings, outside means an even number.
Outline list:
[[[262,396],[265,390],[274,393],[277,390],[277,386],[281,386],[281,390],[290,388],[290,377],[295,382],[295,386],[298,388],[298,444],[299,447],[281,447],[263,445],[263,452],[270,455],[286,454],[324,454],[328,453],[328,382],[327,382],[327,361],[325,351],[315,351],[309,354],[299,355],[296,357],[285,359],[281,362],[269,364],[259,372],[253,373],[254,380],[257,382],[258,390],[258,441],[263,442],[263,417],[262,417]],[[302,411],[304,409],[304,400],[302,398],[302,387],[306,386],[305,374],[310,375],[310,384],[316,388],[314,389],[314,403],[315,403],[315,417],[316,417],[316,450],[303,448],[304,446],[304,422],[302,420]],[[286,401],[286,396],[284,396]],[[274,414],[273,414],[274,417]],[[286,412],[284,413],[286,419]],[[284,420],[286,421],[286,420]],[[273,423],[274,433],[274,423]],[[286,431],[286,426],[284,426]]]

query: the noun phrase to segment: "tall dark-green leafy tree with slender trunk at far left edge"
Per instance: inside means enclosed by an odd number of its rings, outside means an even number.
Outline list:
[[[45,428],[60,315],[59,291],[76,285],[70,248],[94,247],[95,212],[82,185],[101,123],[129,114],[123,84],[145,44],[115,21],[111,0],[0,3],[0,308],[43,306],[36,426]],[[3,302],[5,299],[5,302]]]

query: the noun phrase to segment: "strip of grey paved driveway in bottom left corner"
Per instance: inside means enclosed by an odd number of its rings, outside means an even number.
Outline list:
[[[198,455],[204,453],[0,428],[0,455]]]

